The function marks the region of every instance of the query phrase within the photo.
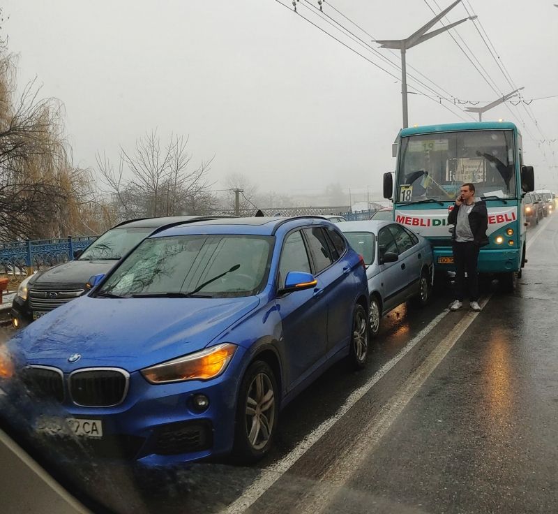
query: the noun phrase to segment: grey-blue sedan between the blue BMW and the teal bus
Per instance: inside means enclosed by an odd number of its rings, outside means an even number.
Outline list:
[[[340,228],[367,267],[371,337],[382,316],[398,305],[428,302],[434,267],[427,240],[393,221],[347,221]]]

